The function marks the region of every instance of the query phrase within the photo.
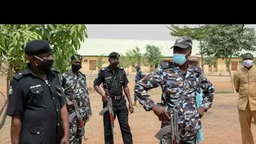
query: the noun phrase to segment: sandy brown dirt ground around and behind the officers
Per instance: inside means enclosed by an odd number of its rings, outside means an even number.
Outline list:
[[[92,77],[92,78],[91,78]],[[87,74],[88,85],[91,78],[93,82],[95,74]],[[230,77],[227,76],[207,76],[213,83],[216,91],[232,90]],[[131,98],[133,101],[134,75],[129,75],[128,79]],[[91,84],[92,85],[92,84]],[[5,77],[0,77],[0,91],[6,93]],[[149,91],[155,101],[160,101],[161,89],[155,88]],[[215,94],[214,104],[203,116],[204,141],[200,144],[241,144],[240,124],[236,101],[237,93]],[[93,117],[86,124],[86,144],[104,144],[103,117],[99,115],[102,109],[101,97],[93,90],[90,90],[91,107]],[[0,96],[0,107],[3,106],[3,97]],[[160,122],[155,114],[146,112],[143,107],[134,107],[135,112],[129,115],[129,124],[133,134],[133,144],[158,144],[154,137],[160,129]],[[0,144],[11,144],[10,140],[10,120],[6,119],[4,127],[0,130]],[[253,136],[256,138],[255,125],[252,125]],[[123,144],[118,121],[115,121],[115,144]],[[85,144],[85,142],[83,142]]]

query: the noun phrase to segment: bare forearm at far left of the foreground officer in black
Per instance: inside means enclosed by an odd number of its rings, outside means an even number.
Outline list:
[[[11,118],[11,144],[19,144],[21,134],[21,117]]]

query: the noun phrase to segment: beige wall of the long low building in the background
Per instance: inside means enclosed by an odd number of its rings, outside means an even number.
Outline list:
[[[83,56],[82,72],[91,72],[91,70],[89,70],[90,60],[96,60],[96,59],[97,59],[97,56]],[[107,67],[109,65],[108,58],[103,57],[103,61],[105,63],[102,65],[102,67]],[[165,57],[164,61],[172,61],[172,58]],[[232,58],[231,61],[237,61],[237,68],[243,67],[241,64],[239,64],[239,61],[241,61],[240,58]],[[201,67],[201,58],[199,58],[199,65]],[[134,66],[136,66],[136,64],[134,64],[133,67],[125,68],[125,71],[126,72],[134,72]],[[150,71],[152,71],[153,69],[155,69],[155,66],[152,66],[150,68]],[[231,69],[231,64],[230,64],[230,69]],[[149,73],[149,67],[141,66],[141,71],[144,73]],[[205,72],[212,72],[212,71],[213,72],[227,72],[225,59],[222,59],[222,58],[218,59],[216,66],[211,65],[209,67],[209,65],[204,65],[204,71]],[[96,68],[96,70],[93,70],[93,72],[99,72],[99,69]]]

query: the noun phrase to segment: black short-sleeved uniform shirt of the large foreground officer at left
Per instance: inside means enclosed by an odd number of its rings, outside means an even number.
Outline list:
[[[59,72],[48,70],[46,83],[29,66],[11,81],[7,115],[21,117],[20,144],[59,144],[61,107],[66,103]]]

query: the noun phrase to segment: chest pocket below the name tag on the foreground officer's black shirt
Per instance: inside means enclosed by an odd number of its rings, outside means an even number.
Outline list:
[[[37,105],[42,105],[45,102],[45,96],[43,95],[43,88],[32,88],[30,89],[30,92],[32,94],[33,102]]]

